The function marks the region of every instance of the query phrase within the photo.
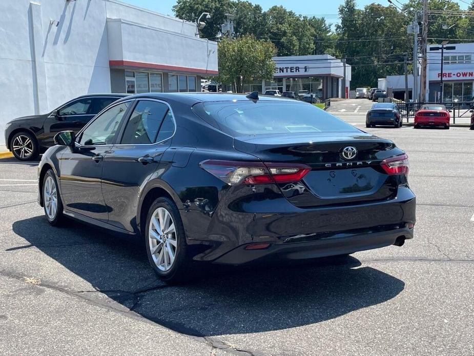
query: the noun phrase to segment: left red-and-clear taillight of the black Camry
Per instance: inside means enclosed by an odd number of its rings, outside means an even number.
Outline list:
[[[199,166],[229,185],[298,182],[311,170],[301,164],[218,160],[202,161]]]

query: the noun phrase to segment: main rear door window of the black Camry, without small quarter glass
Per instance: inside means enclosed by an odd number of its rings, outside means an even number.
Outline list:
[[[168,112],[168,105],[142,100],[135,106],[125,131],[122,145],[149,145],[156,142],[158,130],[163,117]]]

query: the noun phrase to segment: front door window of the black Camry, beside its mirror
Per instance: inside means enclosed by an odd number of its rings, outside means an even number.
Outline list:
[[[79,144],[85,146],[112,145],[120,121],[131,102],[122,103],[102,112],[81,133]]]

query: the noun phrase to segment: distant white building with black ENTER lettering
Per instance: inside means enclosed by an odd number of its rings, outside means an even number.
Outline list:
[[[273,57],[276,64],[272,81],[255,81],[244,91],[305,91],[321,99],[347,97],[351,66],[328,54]],[[344,86],[345,84],[345,86]]]

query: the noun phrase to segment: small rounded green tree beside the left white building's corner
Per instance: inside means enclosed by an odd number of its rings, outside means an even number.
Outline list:
[[[218,47],[219,77],[222,83],[232,83],[233,91],[243,92],[243,84],[254,80],[271,80],[275,72],[272,56],[276,48],[270,41],[243,35],[233,41],[221,39]]]

